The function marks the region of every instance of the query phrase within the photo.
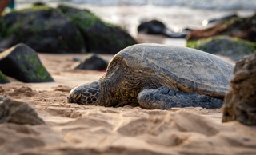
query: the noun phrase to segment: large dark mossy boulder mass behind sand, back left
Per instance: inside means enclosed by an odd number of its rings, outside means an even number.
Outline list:
[[[32,6],[0,18],[0,44],[23,42],[37,52],[115,54],[137,42],[120,26],[102,21],[90,10],[60,5]]]

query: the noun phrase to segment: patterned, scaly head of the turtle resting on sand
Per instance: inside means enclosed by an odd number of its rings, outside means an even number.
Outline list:
[[[71,89],[67,97],[69,103],[78,103],[79,105],[100,105],[101,89],[99,81],[89,84],[78,85]]]

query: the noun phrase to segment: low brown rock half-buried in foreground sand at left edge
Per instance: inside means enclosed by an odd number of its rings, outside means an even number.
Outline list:
[[[43,125],[44,121],[29,105],[20,101],[3,98],[0,105],[0,123],[10,122],[16,124]]]

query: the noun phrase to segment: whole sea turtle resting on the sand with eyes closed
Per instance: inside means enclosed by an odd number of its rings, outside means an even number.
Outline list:
[[[182,46],[137,44],[121,50],[98,81],[70,91],[68,102],[146,109],[200,106],[217,109],[234,66],[212,54]]]

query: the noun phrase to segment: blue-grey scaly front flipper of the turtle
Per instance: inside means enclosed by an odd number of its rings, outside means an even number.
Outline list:
[[[138,93],[138,103],[146,109],[170,109],[189,106],[218,109],[222,107],[223,101],[198,93],[185,93],[162,86],[158,89],[143,89],[142,92]]]

